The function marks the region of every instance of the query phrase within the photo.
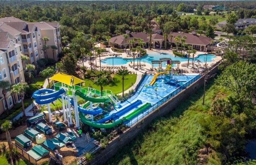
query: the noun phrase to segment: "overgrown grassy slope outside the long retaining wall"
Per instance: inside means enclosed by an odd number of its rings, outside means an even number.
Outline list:
[[[199,120],[207,117],[211,101],[217,93],[214,80],[208,80],[205,105],[202,105],[203,87],[184,100],[166,117],[155,119],[125,147],[122,147],[110,165],[132,164],[196,164],[198,150],[206,141]],[[156,156],[157,155],[157,156]],[[211,162],[220,164],[218,160]]]

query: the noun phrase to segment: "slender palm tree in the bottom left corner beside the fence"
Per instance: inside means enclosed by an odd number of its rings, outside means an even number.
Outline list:
[[[2,131],[6,132],[6,140],[8,142],[8,147],[9,147],[9,150],[10,150],[10,164],[13,165],[13,153],[12,153],[12,139],[11,139],[11,136],[10,136],[10,132],[9,132],[9,129],[12,128],[12,121],[10,120],[6,120],[4,121],[4,123],[2,123],[1,125],[1,129]]]

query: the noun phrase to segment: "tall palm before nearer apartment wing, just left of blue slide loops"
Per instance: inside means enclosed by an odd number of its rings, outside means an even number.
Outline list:
[[[23,117],[24,119],[26,119],[26,113],[25,113],[25,108],[24,108],[24,93],[26,92],[26,89],[28,88],[28,83],[18,83],[18,84],[14,84],[12,85],[12,89],[11,92],[15,92],[18,93],[20,95],[21,98],[21,106],[22,106],[22,113],[23,113]]]

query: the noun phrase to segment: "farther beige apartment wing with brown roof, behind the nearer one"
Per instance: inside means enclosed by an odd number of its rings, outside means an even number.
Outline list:
[[[30,64],[36,65],[36,61],[41,58],[58,61],[58,54],[62,51],[58,22],[25,22],[15,17],[6,17],[0,18],[0,24],[2,32],[9,32],[10,29],[20,32],[17,37],[22,45],[22,54],[30,58]]]

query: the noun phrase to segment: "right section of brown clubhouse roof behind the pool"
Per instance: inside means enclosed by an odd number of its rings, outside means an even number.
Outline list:
[[[180,38],[182,38],[183,36],[186,36],[186,44],[190,44],[190,45],[208,45],[210,44],[210,41],[212,41],[212,38],[206,37],[206,36],[199,36],[197,34],[190,34],[190,33],[178,33],[178,32],[172,32],[170,33],[173,35],[172,38],[172,43],[175,42],[174,38],[178,35],[180,35]],[[168,35],[168,40],[170,41],[171,38],[169,37],[170,35]]]

